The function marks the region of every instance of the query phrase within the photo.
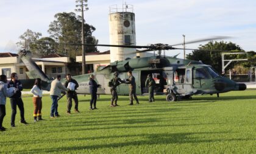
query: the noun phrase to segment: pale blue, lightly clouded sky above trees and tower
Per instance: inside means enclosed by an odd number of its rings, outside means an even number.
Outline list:
[[[232,38],[224,41],[232,41],[245,51],[256,51],[255,0],[88,0],[85,22],[96,27],[93,35],[99,44],[109,44],[110,5],[122,7],[124,2],[134,7],[137,45],[181,43],[183,34],[186,41],[229,36]],[[15,43],[27,29],[48,37],[54,15],[74,9],[75,0],[0,0],[0,52],[17,52]],[[186,47],[196,49],[206,43]],[[107,47],[98,49],[108,50]],[[179,53],[183,57],[183,51],[168,51],[168,55]]]

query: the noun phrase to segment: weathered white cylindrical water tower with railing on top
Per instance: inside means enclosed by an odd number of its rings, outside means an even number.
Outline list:
[[[135,14],[133,5],[123,4],[121,9],[117,5],[110,6],[109,33],[110,44],[114,45],[136,45]],[[126,60],[133,58],[136,49],[124,47],[110,47],[110,61]]]

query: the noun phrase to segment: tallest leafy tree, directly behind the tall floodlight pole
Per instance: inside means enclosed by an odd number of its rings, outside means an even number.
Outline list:
[[[82,18],[80,16],[76,16],[75,13],[57,13],[54,16],[54,21],[49,25],[48,32],[55,41],[60,43],[58,47],[58,52],[60,54],[66,54],[65,52],[65,44],[66,51],[69,57],[76,57],[77,54],[81,54],[81,46],[79,45],[70,45],[67,43],[81,43],[81,27],[82,27]],[[92,36],[95,27],[84,24],[84,36],[85,43],[87,44],[97,44],[98,40]],[[85,47],[86,52],[97,52],[96,46],[94,47]]]

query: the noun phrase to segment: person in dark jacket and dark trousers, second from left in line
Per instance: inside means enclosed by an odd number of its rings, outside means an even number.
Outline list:
[[[22,124],[28,124],[25,121],[25,117],[24,117],[24,104],[23,104],[23,100],[21,99],[21,91],[23,90],[23,86],[21,85],[21,82],[18,80],[18,75],[16,74],[16,72],[13,72],[11,74],[11,80],[8,83],[8,88],[10,87],[14,87],[17,88],[18,90],[16,91],[16,93],[10,97],[10,103],[11,103],[11,107],[12,107],[12,117],[11,117],[11,126],[15,127],[15,116],[16,116],[16,108],[18,106],[18,108],[20,109],[20,116],[21,116],[21,123]]]

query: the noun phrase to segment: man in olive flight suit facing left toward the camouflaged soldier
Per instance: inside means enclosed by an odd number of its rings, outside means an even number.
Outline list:
[[[130,104],[129,105],[133,105],[133,97],[136,100],[137,104],[139,104],[138,102],[138,98],[136,96],[136,82],[135,82],[135,77],[133,77],[132,75],[132,71],[128,71],[127,72],[129,78],[126,79],[126,83],[129,84],[129,97],[130,97]]]

